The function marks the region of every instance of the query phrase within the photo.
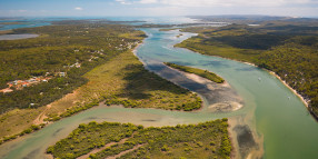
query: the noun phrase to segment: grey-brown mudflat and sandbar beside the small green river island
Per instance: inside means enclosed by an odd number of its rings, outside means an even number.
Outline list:
[[[148,63],[148,66],[151,66]],[[198,93],[205,101],[205,107],[198,111],[230,112],[244,107],[242,99],[228,82],[216,83],[200,76],[180,71],[163,63],[156,63],[156,73],[165,79]],[[160,70],[160,71],[158,71]]]

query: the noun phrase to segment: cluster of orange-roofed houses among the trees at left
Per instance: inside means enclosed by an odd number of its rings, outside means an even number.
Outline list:
[[[66,77],[66,72],[58,72],[56,76],[59,77]],[[40,76],[40,77],[32,77],[28,80],[14,80],[10,81],[7,85],[9,86],[8,88],[1,89],[0,92],[7,93],[13,91],[12,88],[16,90],[21,90],[24,87],[30,87],[40,82],[48,82],[50,79],[52,79],[53,76],[49,76],[49,72],[46,73],[46,76]]]

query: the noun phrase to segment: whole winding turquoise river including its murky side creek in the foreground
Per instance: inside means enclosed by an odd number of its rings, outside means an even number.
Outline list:
[[[242,98],[244,107],[231,112],[179,112],[157,109],[129,109],[122,107],[92,108],[79,115],[49,125],[32,135],[0,146],[0,158],[46,158],[46,148],[67,137],[79,123],[96,121],[132,122],[145,126],[173,126],[196,123],[217,118],[230,118],[231,136],[238,148],[237,157],[256,157],[258,152],[267,159],[314,159],[318,157],[318,125],[308,115],[301,100],[276,77],[256,67],[217,57],[207,57],[192,51],[173,48],[193,33],[142,29],[149,38],[137,50],[146,67],[162,74],[162,61],[187,64],[216,72]],[[261,80],[259,80],[261,79]],[[196,86],[182,85],[190,90]],[[202,96],[211,102],[208,96]],[[290,97],[290,98],[288,98]],[[208,105],[207,105],[208,106]],[[251,140],[250,140],[251,139]],[[264,147],[262,147],[264,146]],[[245,153],[249,150],[254,155]]]

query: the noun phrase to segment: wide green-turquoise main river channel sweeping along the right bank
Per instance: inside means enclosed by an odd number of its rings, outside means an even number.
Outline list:
[[[176,38],[178,31],[160,32],[157,29],[143,29],[143,31],[150,34],[150,38],[138,50],[138,56],[148,64],[169,61],[207,69],[223,77],[238,91],[245,100],[245,113],[252,113],[249,119],[250,127],[255,125],[257,132],[264,137],[265,158],[318,157],[317,122],[308,113],[301,100],[276,77],[246,63],[172,48],[175,43],[191,36],[189,33],[183,33],[185,36],[178,39]],[[254,107],[256,107],[255,112],[250,112]]]

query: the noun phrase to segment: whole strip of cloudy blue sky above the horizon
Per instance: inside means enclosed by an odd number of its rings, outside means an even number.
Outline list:
[[[318,17],[318,0],[0,0],[0,17]]]

